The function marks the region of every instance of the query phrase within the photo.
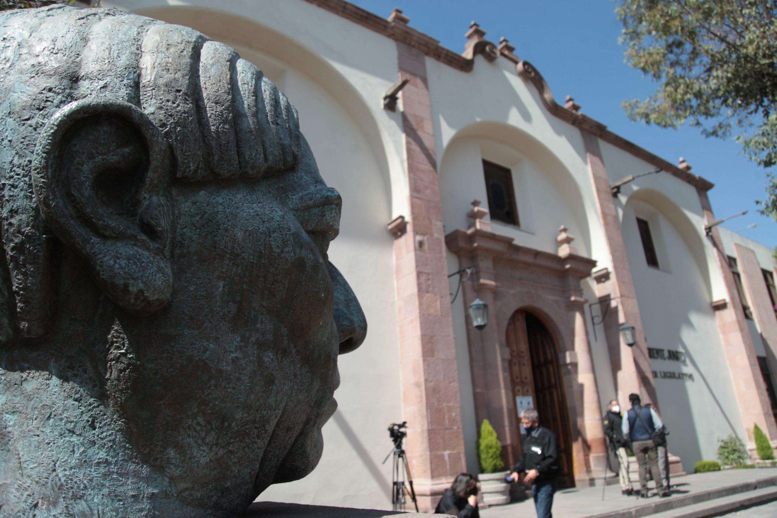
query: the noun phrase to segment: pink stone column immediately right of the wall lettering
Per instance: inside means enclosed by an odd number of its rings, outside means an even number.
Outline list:
[[[713,207],[709,203],[706,191],[699,189],[699,201],[702,203],[706,223],[710,224],[715,221]],[[774,440],[777,439],[777,426],[775,426],[774,415],[772,415],[772,407],[769,404],[750,330],[747,328],[737,286],[733,280],[726,252],[723,251],[723,242],[720,240],[720,230],[717,227],[711,229],[709,239],[712,240],[716,249],[715,255],[720,272],[723,274],[723,282],[726,285],[729,301],[725,308],[720,308],[715,312],[715,317],[718,329],[720,329],[720,337],[723,340],[723,352],[731,372],[742,422],[747,430],[747,439],[750,443],[754,442],[753,425],[758,424]]]

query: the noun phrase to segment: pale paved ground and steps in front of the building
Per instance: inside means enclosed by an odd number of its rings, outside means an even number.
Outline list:
[[[672,496],[668,499],[660,499],[658,496],[653,496],[649,499],[623,496],[618,485],[608,485],[604,492],[604,499],[602,499],[601,486],[561,489],[556,493],[556,499],[553,502],[553,516],[554,518],[585,518],[587,516],[597,516],[621,510],[625,511],[626,509],[649,505],[654,502],[677,499],[683,495],[713,491],[747,481],[774,478],[775,475],[777,475],[777,468],[726,470],[699,475],[687,475],[672,481],[672,484],[676,487],[672,489]],[[742,493],[742,495],[745,494],[747,493]],[[493,506],[489,509],[483,509],[480,511],[480,516],[483,516],[483,518],[531,518],[536,516],[536,514],[534,502],[531,499],[527,499],[523,502],[515,502],[506,506]],[[734,513],[732,516],[737,515]],[[751,518],[751,516],[742,514],[738,516]],[[777,512],[763,516],[775,518],[777,517]],[[752,518],[756,517],[761,518],[758,514],[754,514]]]

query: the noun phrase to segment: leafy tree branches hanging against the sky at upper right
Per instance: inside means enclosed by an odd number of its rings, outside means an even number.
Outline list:
[[[648,99],[624,103],[632,120],[735,130],[744,155],[777,165],[777,2],[615,0],[626,61],[658,82]],[[767,173],[759,211],[777,219],[777,177]]]

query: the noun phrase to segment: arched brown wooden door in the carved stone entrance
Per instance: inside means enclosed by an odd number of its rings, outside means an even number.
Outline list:
[[[570,426],[556,342],[539,318],[528,311],[515,311],[507,323],[507,347],[517,422],[521,422],[517,415],[519,401],[527,402],[525,398],[531,398],[542,426],[559,438],[559,485],[573,487]],[[518,444],[520,447],[520,434]]]

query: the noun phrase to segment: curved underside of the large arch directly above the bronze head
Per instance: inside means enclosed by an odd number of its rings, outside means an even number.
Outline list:
[[[382,130],[367,99],[329,61],[299,41],[254,19],[191,5],[148,6],[150,2],[145,3],[145,7],[134,12],[167,23],[189,26],[234,47],[249,61],[252,61],[251,53],[266,54],[300,71],[319,85],[342,106],[367,141],[389,196],[389,219],[407,213],[408,202],[404,193],[408,187],[402,151],[395,148],[389,135]],[[294,99],[291,101],[293,103]],[[304,113],[301,116],[304,117]]]

